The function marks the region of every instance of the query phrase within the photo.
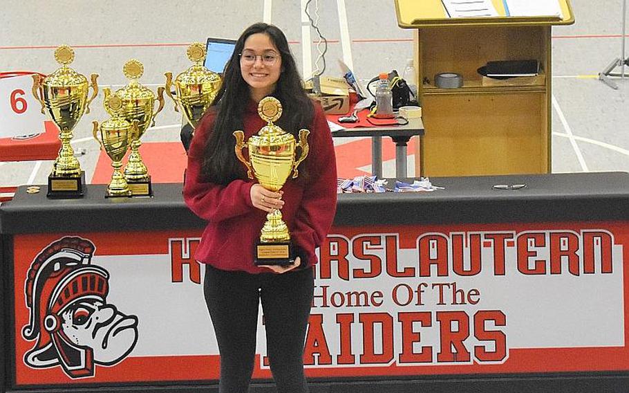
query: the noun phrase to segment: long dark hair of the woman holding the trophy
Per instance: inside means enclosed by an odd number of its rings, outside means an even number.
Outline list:
[[[301,77],[284,33],[270,24],[256,23],[249,26],[236,42],[234,53],[225,65],[223,86],[216,95],[214,104],[208,109],[216,113],[216,118],[205,145],[201,174],[204,180],[210,183],[227,184],[235,179],[245,179],[246,176],[244,165],[234,154],[236,139],[232,133],[237,129],[243,129],[245,107],[251,100],[249,85],[241,74],[240,53],[245,46],[245,40],[256,33],[268,35],[281,55],[282,71],[272,94],[280,100],[283,108],[282,116],[276,124],[299,140],[297,138],[299,129],[307,128],[312,122],[314,107],[303,90]],[[306,175],[302,173],[302,168],[307,172],[307,165],[303,165],[307,161],[299,165],[300,178],[302,174]]]

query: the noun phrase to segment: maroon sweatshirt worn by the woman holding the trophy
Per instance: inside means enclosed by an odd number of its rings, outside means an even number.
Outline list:
[[[308,181],[289,177],[282,188],[283,220],[290,231],[291,241],[308,259],[301,262],[302,266],[317,263],[315,248],[328,234],[337,205],[337,167],[332,136],[321,105],[316,102],[314,105],[315,116],[308,127],[310,152],[304,162],[308,165]],[[257,103],[253,101],[245,109],[244,116],[246,141],[266,122],[258,115]],[[200,177],[203,150],[212,122],[214,115],[208,113],[196,127],[188,152],[184,199],[192,212],[207,221],[194,257],[199,262],[227,271],[268,273],[269,269],[254,266],[254,246],[267,215],[267,212],[254,208],[251,202],[250,190],[256,181],[235,180],[228,185],[217,185],[204,182]],[[246,149],[244,154],[247,157]]]

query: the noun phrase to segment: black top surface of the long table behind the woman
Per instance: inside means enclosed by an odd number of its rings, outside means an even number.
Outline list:
[[[409,179],[406,179],[409,180]],[[629,173],[601,172],[431,179],[434,192],[340,194],[335,226],[417,223],[500,223],[629,219]],[[390,185],[395,183],[390,181]],[[494,185],[526,184],[519,190]],[[47,199],[20,187],[0,205],[3,234],[203,228],[188,210],[182,184],[154,184],[151,198],[104,198],[88,185],[82,199]]]

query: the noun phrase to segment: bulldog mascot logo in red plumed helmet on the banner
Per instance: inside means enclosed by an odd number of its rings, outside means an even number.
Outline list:
[[[27,365],[60,365],[71,378],[94,376],[94,365],[119,363],[138,342],[138,317],[107,304],[109,273],[91,264],[95,246],[64,237],[41,250],[30,264],[26,340],[37,340],[24,355]]]

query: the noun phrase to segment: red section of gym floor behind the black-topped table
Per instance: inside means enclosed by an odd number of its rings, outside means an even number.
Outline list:
[[[415,138],[409,142],[408,152],[415,152]],[[371,139],[364,138],[335,147],[339,177],[353,178],[370,174],[359,170],[371,164]],[[153,183],[180,183],[186,167],[186,154],[178,142],[142,143],[140,154],[149,168]],[[382,138],[382,160],[395,159],[395,143]],[[125,158],[126,162],[126,158]],[[106,184],[111,179],[111,160],[101,151],[91,183]]]

